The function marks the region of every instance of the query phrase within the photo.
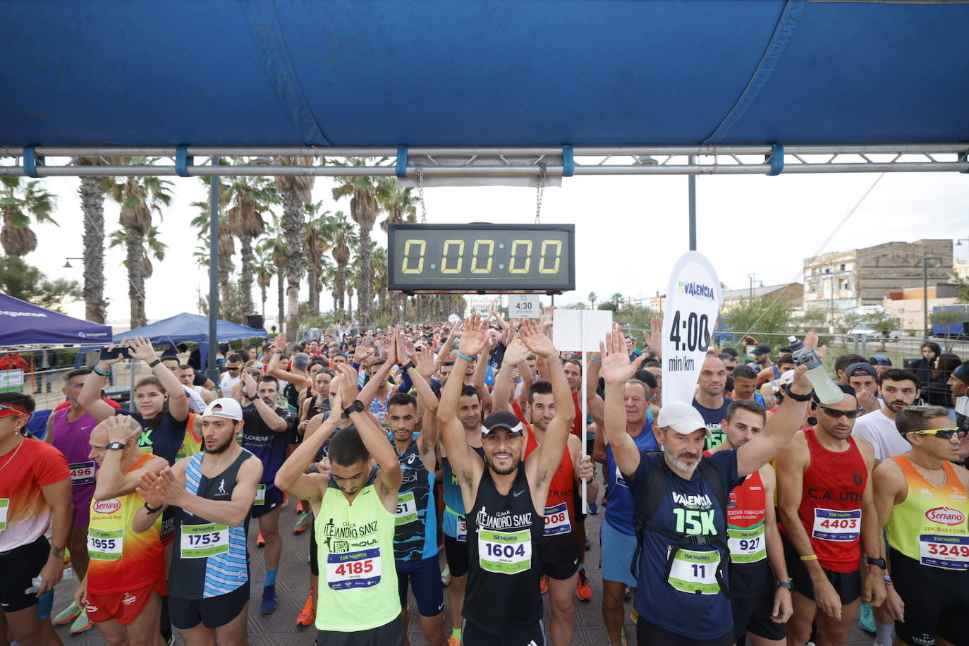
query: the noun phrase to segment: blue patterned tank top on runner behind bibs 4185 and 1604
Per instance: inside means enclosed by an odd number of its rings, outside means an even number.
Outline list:
[[[412,442],[403,453],[397,453],[397,460],[403,480],[397,492],[393,558],[397,561],[429,559],[437,555],[434,473],[424,467],[417,442]],[[431,512],[427,513],[427,509]]]

